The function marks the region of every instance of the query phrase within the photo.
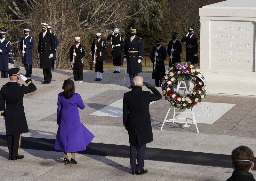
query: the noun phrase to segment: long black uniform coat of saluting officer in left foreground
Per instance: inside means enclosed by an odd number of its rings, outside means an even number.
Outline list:
[[[6,135],[28,133],[23,97],[36,91],[36,86],[30,79],[26,83],[28,86],[18,82],[7,82],[1,86],[0,110],[1,115],[5,116]]]

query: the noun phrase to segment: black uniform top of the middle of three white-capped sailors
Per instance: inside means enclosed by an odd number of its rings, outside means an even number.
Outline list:
[[[92,59],[94,55],[94,48],[95,48],[95,40],[92,41]],[[104,51],[106,49],[106,41],[100,38],[100,40],[97,40],[97,57],[96,57],[96,62],[104,61],[105,60],[105,54]]]

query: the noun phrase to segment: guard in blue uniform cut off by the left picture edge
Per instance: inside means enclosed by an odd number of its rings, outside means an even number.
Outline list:
[[[5,32],[0,32],[0,71],[2,78],[8,78],[8,59],[11,52],[11,42],[5,39]]]

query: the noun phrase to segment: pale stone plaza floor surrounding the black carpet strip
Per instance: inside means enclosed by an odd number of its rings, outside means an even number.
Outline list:
[[[12,68],[12,65],[9,65]],[[152,68],[145,68],[151,70]],[[79,110],[81,122],[95,135],[92,143],[97,145],[111,145],[116,148],[129,146],[128,133],[123,127],[122,98],[125,92],[130,91],[129,76],[124,82],[124,68],[120,74],[113,74],[114,69],[105,69],[102,81],[96,82],[94,70],[84,71],[84,81],[76,84],[76,92],[84,101],[85,109]],[[25,74],[24,68],[20,73]],[[72,70],[53,70],[52,83],[43,82],[42,69],[33,69],[31,77],[37,90],[24,96],[26,118],[29,133],[22,134],[24,138],[36,140],[54,140],[57,125],[57,98],[62,91],[63,81],[68,77],[73,79]],[[145,82],[154,85],[152,74],[141,73]],[[9,79],[0,78],[0,83],[5,84]],[[124,82],[124,83],[123,83]],[[19,83],[24,83],[21,79]],[[143,90],[148,89],[143,86]],[[159,91],[160,88],[158,88]],[[211,154],[215,156],[230,156],[231,151],[245,145],[256,153],[256,97],[239,95],[207,94],[201,105],[194,108],[199,133],[195,125],[182,127],[178,123],[165,123],[160,130],[169,103],[162,98],[150,105],[151,123],[154,141],[147,144],[147,148],[157,148],[170,154],[180,150],[180,153]],[[173,107],[168,118],[173,116]],[[178,111],[178,110],[176,110]],[[4,120],[0,121],[0,134],[5,135]],[[123,147],[122,147],[123,146]],[[88,145],[90,147],[90,145]],[[131,175],[129,155],[119,156],[76,154],[76,165],[65,165],[62,152],[49,151],[21,145],[21,155],[25,158],[9,161],[8,148],[0,146],[0,180],[173,180],[173,181],[217,181],[226,180],[232,175],[230,166],[211,166],[214,160],[209,159],[204,164],[195,164],[189,161],[175,162],[158,158],[145,160],[147,174],[140,176]],[[128,148],[128,147],[127,147]],[[113,150],[115,152],[115,150]],[[118,150],[116,150],[117,152]],[[186,151],[186,152],[182,152]],[[129,150],[128,150],[129,152]],[[152,151],[151,151],[152,152]],[[150,153],[151,154],[151,153]],[[152,153],[157,154],[157,153]],[[115,153],[114,153],[115,155]],[[147,155],[147,150],[146,150]],[[182,155],[180,155],[182,157]],[[71,156],[70,156],[71,157]],[[218,162],[218,160],[216,160]],[[252,171],[254,177],[256,171]]]

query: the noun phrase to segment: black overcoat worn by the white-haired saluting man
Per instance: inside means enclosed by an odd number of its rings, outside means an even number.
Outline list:
[[[151,91],[153,94],[142,91],[140,86],[134,86],[132,91],[124,93],[123,122],[132,145],[153,141],[149,103],[161,99],[162,95],[155,87],[151,87]]]

